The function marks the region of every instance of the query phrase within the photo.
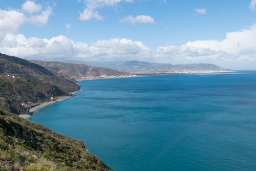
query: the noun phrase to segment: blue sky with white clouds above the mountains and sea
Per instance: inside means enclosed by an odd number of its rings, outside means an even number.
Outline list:
[[[256,0],[0,1],[0,53],[256,70]]]

